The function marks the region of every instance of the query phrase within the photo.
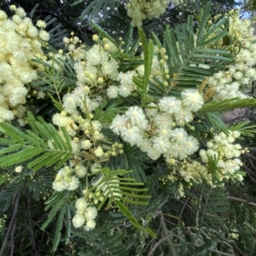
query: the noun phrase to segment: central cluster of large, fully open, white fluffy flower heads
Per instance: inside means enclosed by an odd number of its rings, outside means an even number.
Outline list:
[[[151,103],[146,110],[133,106],[125,114],[117,115],[110,129],[132,146],[137,145],[152,160],[163,154],[183,160],[199,147],[195,137],[189,136],[183,125],[193,120],[193,112],[199,110],[203,98],[198,90],[184,90],[182,99],[166,96],[158,105]],[[180,128],[174,128],[175,126]]]

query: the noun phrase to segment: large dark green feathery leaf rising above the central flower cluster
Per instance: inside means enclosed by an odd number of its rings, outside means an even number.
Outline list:
[[[207,26],[210,18],[211,3],[201,11],[198,17],[198,32],[194,31],[192,16],[188,17],[187,24],[177,25],[175,28],[166,28],[164,48],[168,55],[168,68],[171,79],[169,85],[150,84],[152,96],[177,94],[183,88],[195,88],[207,77],[224,68],[231,61],[230,52],[223,49],[207,49],[208,46],[218,42],[228,34],[222,29],[226,19],[219,20],[211,27]],[[154,38],[156,38],[154,36]],[[160,47],[157,40],[155,43]],[[209,47],[208,47],[209,48]],[[207,64],[209,68],[200,66]]]

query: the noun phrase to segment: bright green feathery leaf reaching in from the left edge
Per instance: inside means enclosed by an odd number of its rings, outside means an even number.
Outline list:
[[[61,128],[61,137],[53,125],[40,117],[34,119],[32,113],[28,113],[27,123],[32,131],[26,133],[8,123],[0,124],[1,133],[7,137],[0,138],[0,143],[5,145],[0,150],[0,166],[14,166],[29,160],[26,167],[34,171],[49,166],[58,170],[73,154],[67,131]]]

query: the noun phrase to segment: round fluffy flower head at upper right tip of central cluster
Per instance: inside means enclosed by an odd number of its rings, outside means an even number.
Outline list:
[[[182,99],[183,107],[189,108],[192,112],[199,110],[204,103],[203,96],[198,90],[193,89],[183,90]]]

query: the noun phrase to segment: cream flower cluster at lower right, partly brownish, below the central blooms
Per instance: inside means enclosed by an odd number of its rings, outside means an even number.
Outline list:
[[[215,135],[211,141],[207,142],[207,150],[200,149],[201,158],[199,160],[191,158],[178,160],[174,157],[168,159],[169,173],[166,177],[160,177],[160,181],[179,183],[177,190],[180,196],[184,195],[184,185],[190,188],[193,183],[206,182],[212,186],[214,178],[212,172],[209,172],[211,159],[217,163],[218,171],[214,177],[218,177],[218,180],[242,181],[243,177],[239,172],[242,163],[239,157],[242,153],[247,152],[247,148],[242,149],[239,143],[235,143],[240,135],[239,131],[229,131],[228,135],[224,132]]]

